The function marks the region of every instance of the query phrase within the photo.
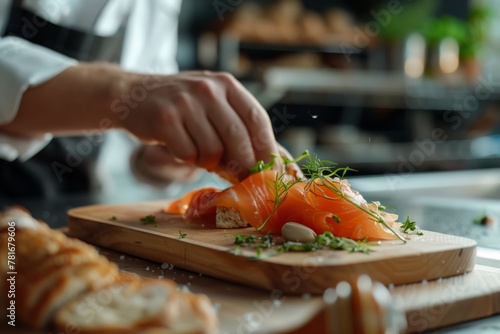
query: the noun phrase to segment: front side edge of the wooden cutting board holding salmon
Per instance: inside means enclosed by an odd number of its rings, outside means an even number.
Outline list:
[[[77,237],[101,247],[114,249],[116,251],[146,258],[159,263],[172,263],[193,272],[202,271],[203,274],[238,284],[245,284],[269,291],[279,289],[285,293],[291,294],[321,294],[325,289],[340,281],[340,278],[332,279],[332,275],[328,272],[331,268],[325,269],[318,266],[308,267],[305,264],[290,266],[260,260],[249,261],[246,257],[237,256],[222,249],[203,249],[203,258],[199,258],[192,255],[196,252],[191,250],[193,250],[193,247],[200,247],[200,245],[186,242],[186,240],[171,239],[172,245],[170,246],[172,249],[169,249],[169,253],[165,256],[165,250],[160,247],[165,244],[165,240],[163,240],[164,236],[162,234],[155,234],[150,233],[150,231],[135,229],[134,233],[137,233],[137,235],[140,236],[139,239],[141,240],[130,244],[130,240],[120,239],[122,232],[130,230],[129,226],[121,225],[112,221],[104,222],[104,224],[105,225],[103,225],[103,222],[100,221],[89,221],[85,218],[77,218],[75,215],[68,216],[68,227],[70,230],[70,236],[72,237]],[[103,228],[103,226],[105,226],[105,228]],[[96,230],[99,230],[102,233],[96,235]],[[106,238],[107,233],[112,233],[115,241],[109,242],[109,239]],[[141,246],[143,242],[148,243],[148,249]],[[154,246],[151,247],[151,245]],[[459,250],[450,250],[447,252],[447,256],[449,258],[456,257],[457,253],[460,253],[461,256],[473,258],[475,256],[475,247],[476,246],[474,245]],[[418,254],[415,255],[415,257],[418,256]],[[213,262],[222,263],[224,265],[214,267],[207,266],[207,259],[217,259],[217,261]],[[312,255],[310,259],[312,261],[314,259],[314,255]],[[439,269],[442,269],[442,266],[435,265],[430,260],[427,260],[427,262],[430,263],[430,266],[434,266],[437,269],[433,271],[433,275],[428,276],[425,279],[432,280],[450,276],[450,273],[448,272],[443,273],[439,271]],[[385,285],[398,285],[416,282],[409,281],[407,278],[403,277],[394,280],[384,275],[385,272],[392,269],[390,265],[394,266],[393,263],[397,263],[397,260],[393,260],[392,262],[388,260],[371,261],[370,266],[380,266],[381,268],[389,266],[387,270],[376,271],[378,274],[371,275],[372,279]],[[346,266],[343,265],[338,266],[336,269],[339,270],[339,272],[344,272],[342,280],[352,280],[358,275],[366,273],[365,266],[365,263],[359,263],[354,267],[354,270],[352,270],[352,265],[349,270],[344,269]],[[470,271],[473,267],[474,263],[471,263],[470,261],[466,262],[463,269],[456,274],[458,275],[463,272]],[[240,268],[242,270],[234,270],[234,268]]]

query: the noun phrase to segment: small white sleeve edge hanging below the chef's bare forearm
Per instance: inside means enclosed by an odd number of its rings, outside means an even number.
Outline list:
[[[0,158],[7,161],[26,161],[52,140],[52,135],[46,134],[43,138],[18,138],[0,133]]]

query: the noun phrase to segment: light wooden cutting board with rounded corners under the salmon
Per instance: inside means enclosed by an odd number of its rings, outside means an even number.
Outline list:
[[[320,294],[360,274],[386,285],[455,276],[474,267],[474,240],[424,231],[406,244],[373,246],[370,254],[322,250],[286,252],[251,260],[255,251],[234,254],[235,236],[254,228],[213,229],[162,211],[168,201],[95,205],[68,212],[69,234],[86,242],[223,280],[285,293]],[[154,224],[141,218],[154,215]],[[181,238],[181,234],[185,235]],[[276,239],[280,242],[279,238]]]

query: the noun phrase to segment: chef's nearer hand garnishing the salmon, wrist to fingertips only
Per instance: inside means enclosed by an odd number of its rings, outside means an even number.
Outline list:
[[[215,72],[141,76],[133,79],[130,90],[145,82],[149,90],[143,101],[124,113],[121,122],[143,142],[161,146],[147,148],[144,155],[145,163],[151,161],[159,175],[161,161],[165,171],[171,170],[174,157],[173,165],[193,164],[234,183],[245,178],[257,161],[279,154],[266,111],[233,76]]]

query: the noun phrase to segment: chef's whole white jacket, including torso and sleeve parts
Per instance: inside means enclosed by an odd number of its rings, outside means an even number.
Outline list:
[[[10,12],[0,1],[0,36]],[[114,35],[124,20],[121,65],[130,71],[177,71],[177,20],[181,0],[25,0],[23,6],[64,27]],[[128,19],[127,19],[128,17]],[[0,38],[0,124],[15,118],[23,93],[61,73],[76,61],[16,37]],[[26,139],[0,132],[0,159],[25,161],[52,138]]]

